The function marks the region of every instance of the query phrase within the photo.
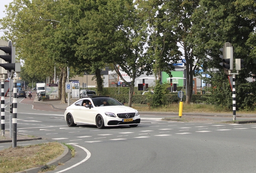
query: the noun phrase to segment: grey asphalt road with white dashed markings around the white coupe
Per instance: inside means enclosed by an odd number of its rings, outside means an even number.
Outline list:
[[[182,123],[142,115],[138,127],[68,127],[62,110],[18,99],[18,133],[68,143],[76,157],[50,171],[74,173],[252,173],[256,171],[256,124]],[[29,102],[29,101],[28,101]],[[8,105],[8,100],[6,100]],[[8,106],[6,107],[8,110]],[[44,109],[44,110],[39,110]],[[6,112],[6,115],[8,113]],[[165,115],[163,115],[165,117]],[[229,119],[228,117],[215,117]],[[6,118],[6,130],[9,119]],[[11,143],[1,143],[0,149]]]

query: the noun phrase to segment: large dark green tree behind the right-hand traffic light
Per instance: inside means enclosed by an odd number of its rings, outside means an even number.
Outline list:
[[[194,24],[192,38],[196,45],[194,53],[202,57],[200,64],[204,69],[219,68],[222,72],[222,67],[219,65],[221,62],[219,48],[222,48],[225,42],[232,44],[234,58],[244,59],[246,68],[240,70],[235,79],[237,105],[243,105],[248,96],[245,93],[255,93],[254,87],[239,89],[240,86],[246,86],[245,79],[254,77],[252,74],[256,72],[254,68],[255,6],[256,2],[252,0],[201,0],[200,6],[192,16]],[[222,75],[228,85],[227,76],[223,72]],[[218,95],[213,97],[217,98]],[[223,98],[223,102],[227,102],[225,100],[228,99]]]

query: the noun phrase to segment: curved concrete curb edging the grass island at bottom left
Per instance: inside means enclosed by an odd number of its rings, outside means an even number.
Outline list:
[[[62,153],[62,155],[60,155],[53,161],[50,161],[50,162],[46,163],[45,165],[42,165],[39,167],[26,169],[24,171],[19,171],[16,173],[38,173],[38,171],[41,171],[42,169],[47,169],[50,166],[58,166],[59,163],[64,163],[64,162],[70,160],[71,159],[71,151],[68,149],[68,147],[66,145],[63,145],[62,143],[61,143],[61,145],[62,145],[62,147],[64,147],[64,152]]]

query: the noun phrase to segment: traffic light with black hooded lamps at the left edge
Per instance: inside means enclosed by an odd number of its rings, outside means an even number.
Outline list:
[[[7,63],[1,63],[5,70],[7,70],[8,77],[12,77],[12,70],[15,72],[21,72],[21,63],[15,62],[15,49],[12,47],[12,41],[9,40],[8,46],[0,46],[0,50],[4,51],[7,55],[0,55],[0,58],[5,60]]]

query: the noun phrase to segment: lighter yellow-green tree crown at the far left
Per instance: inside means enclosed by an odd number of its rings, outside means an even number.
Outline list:
[[[0,20],[4,38],[12,40],[17,61],[24,61],[26,73],[31,77],[46,78],[54,72],[54,62],[45,56],[41,46],[44,39],[41,29],[46,24],[42,17],[50,14],[52,4],[53,0],[14,0],[6,8],[6,17]]]

